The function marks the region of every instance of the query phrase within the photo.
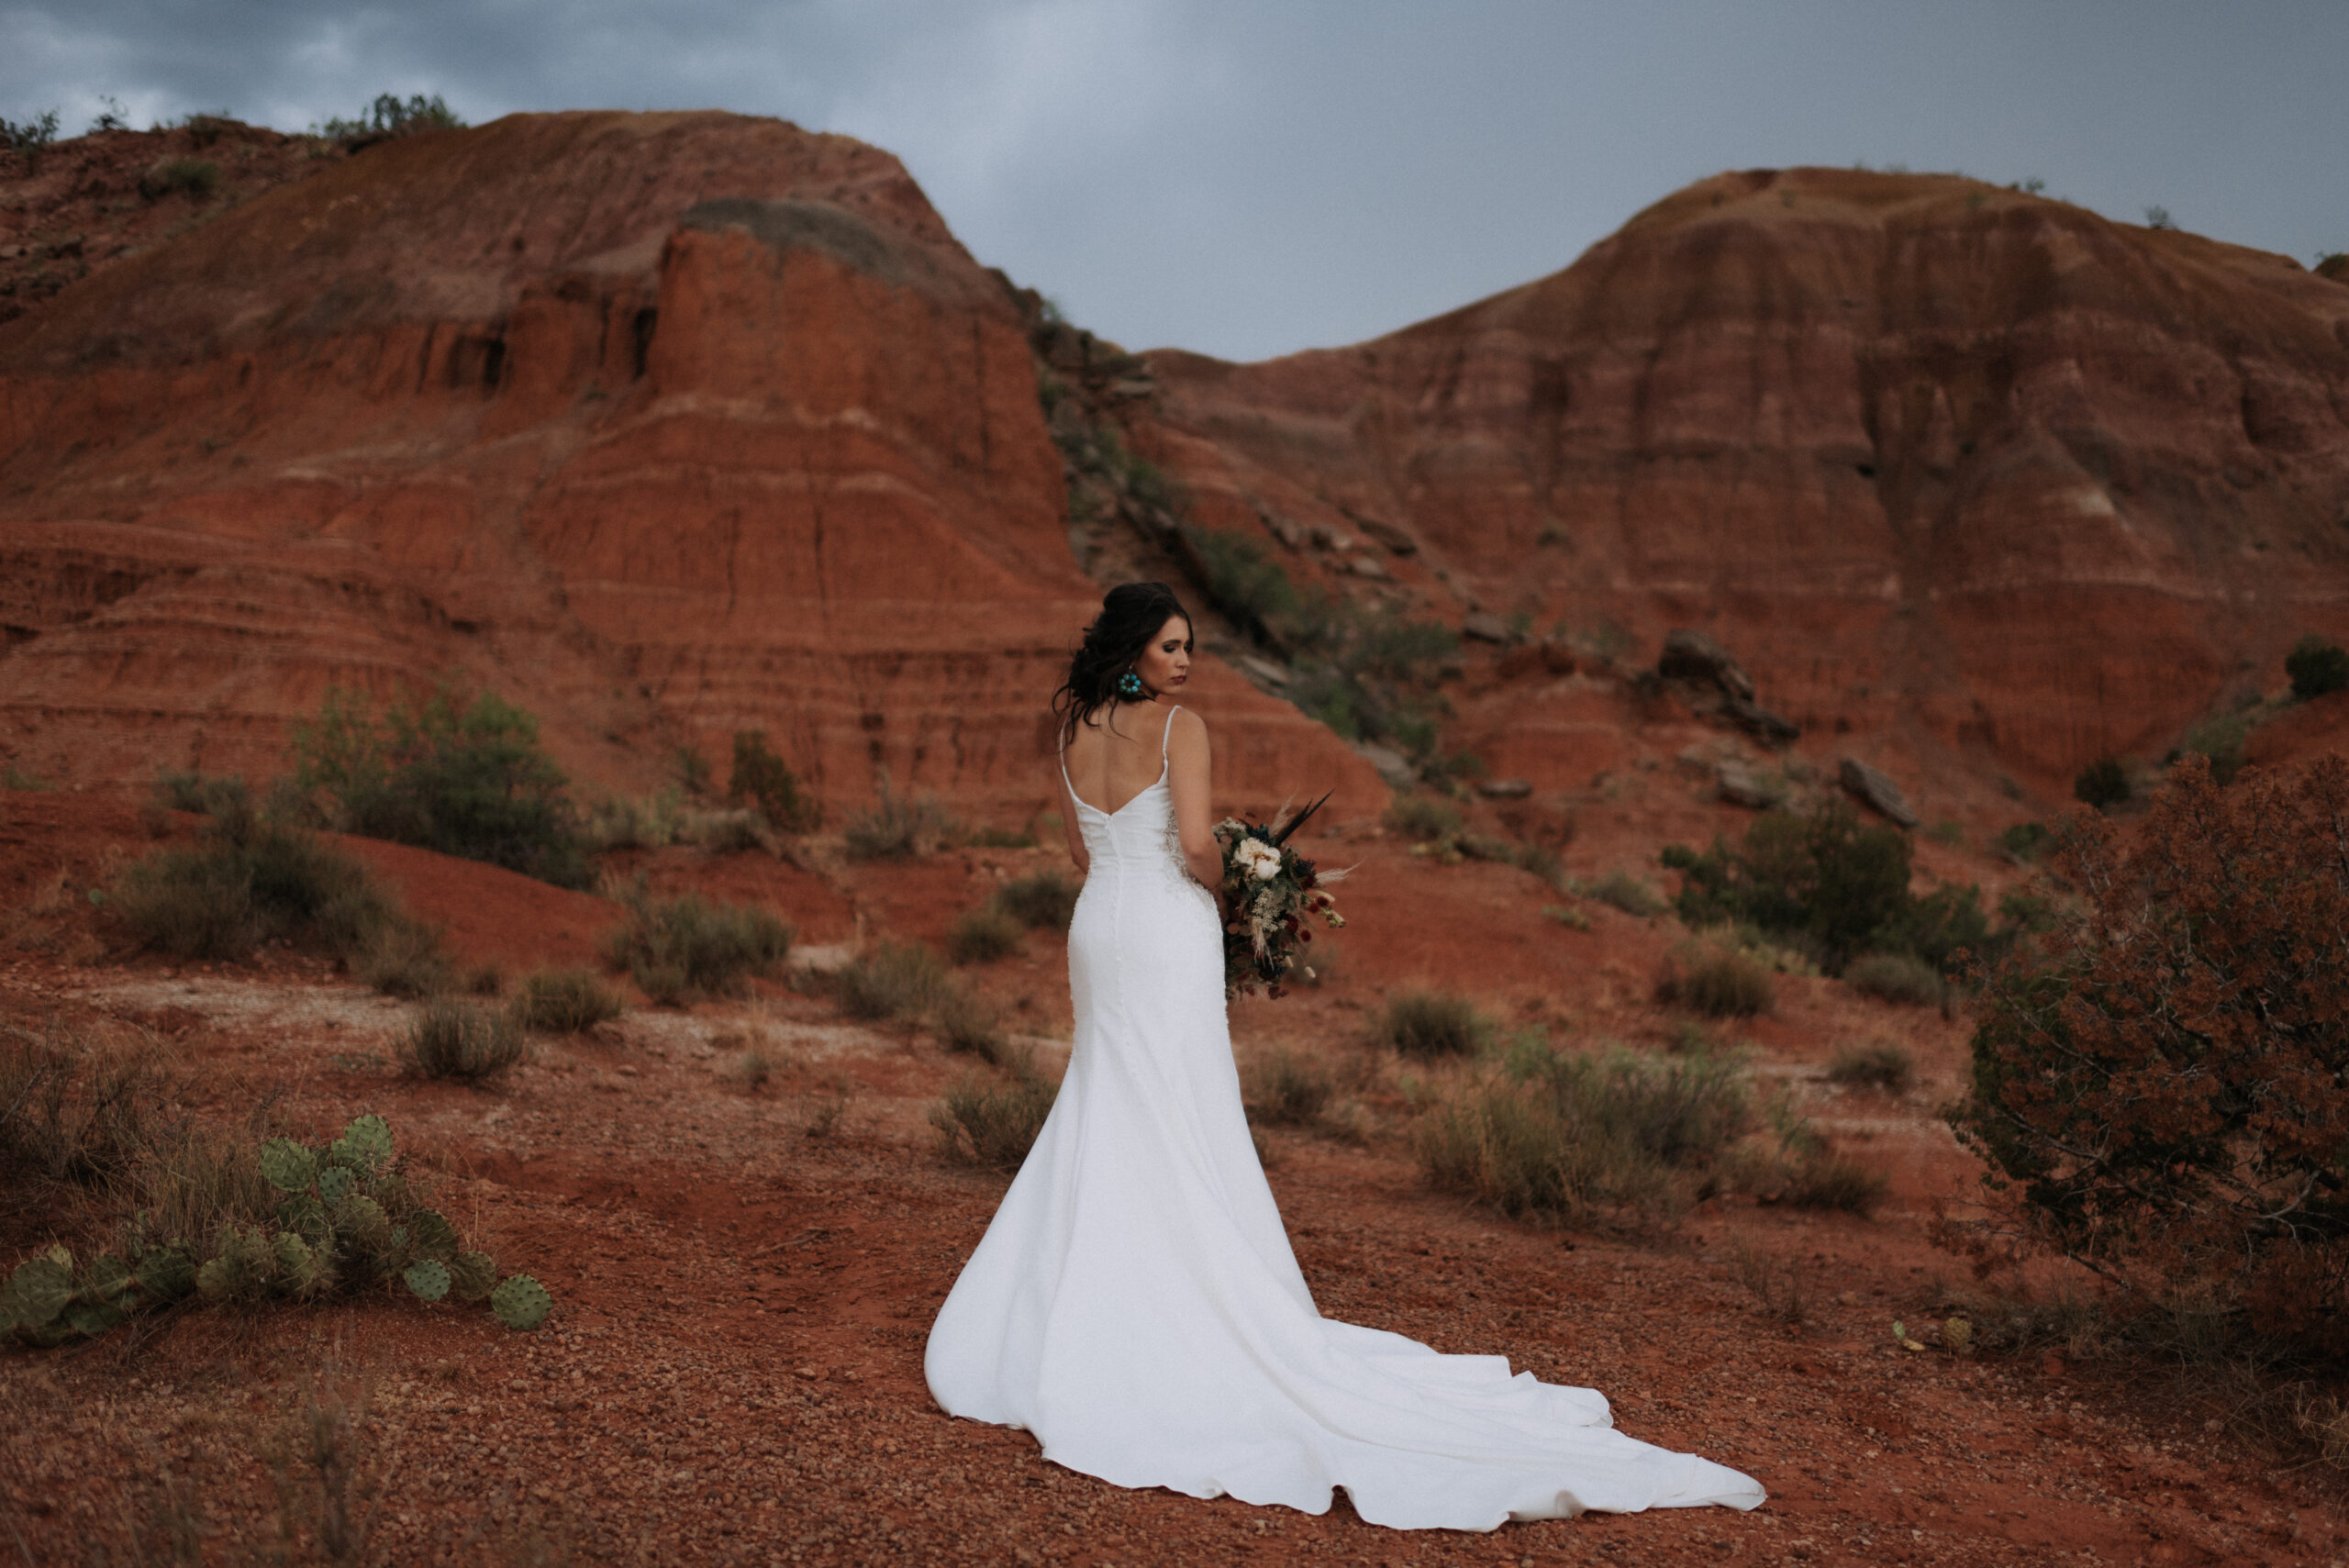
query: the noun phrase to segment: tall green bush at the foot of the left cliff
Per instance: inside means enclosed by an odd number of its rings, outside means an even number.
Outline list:
[[[378,718],[364,697],[329,690],[319,716],[294,730],[294,786],[348,833],[557,887],[594,880],[564,775],[538,749],[538,721],[493,692],[463,702],[439,685]]]

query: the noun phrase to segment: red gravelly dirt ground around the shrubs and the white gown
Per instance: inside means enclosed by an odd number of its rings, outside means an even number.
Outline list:
[[[1670,768],[1579,803],[1574,876],[1654,866],[1661,838],[1734,831]],[[193,819],[176,819],[190,833]],[[1266,1131],[1271,1183],[1325,1312],[1501,1352],[1609,1394],[1635,1437],[1759,1476],[1771,1500],[1583,1516],[1492,1535],[1393,1533],[1339,1502],[1325,1516],[1120,1491],[1043,1465],[1022,1432],[937,1413],[921,1378],[930,1314],[1001,1197],[1003,1176],[944,1164],[926,1110],[982,1070],[911,1028],[836,1016],[820,986],[738,1002],[639,1007],[587,1038],[540,1038],[486,1089],[399,1077],[409,1005],[317,960],[179,967],[127,955],[87,892],[150,847],[127,798],[0,793],[0,1021],[96,1042],[150,1038],[209,1120],[254,1106],[303,1134],[362,1110],[439,1202],[557,1298],[538,1333],[479,1307],[366,1298],[254,1314],[181,1312],[70,1352],[0,1357],[19,1432],[0,1516],[28,1561],[78,1561],[169,1472],[218,1533],[207,1561],[270,1545],[261,1458],[310,1368],[364,1390],[383,1476],[381,1561],[625,1563],[2330,1563],[2349,1514],[2321,1469],[2229,1434],[2227,1411],[2105,1361],[1910,1354],[1891,1322],[1938,1317],[1961,1270],[1924,1239],[1933,1197],[1971,1181],[1936,1117],[1959,1080],[1964,1021],[1783,976],[1745,1040],[1846,1150],[1884,1164],[1875,1218],[1708,1199],[1656,1239],[1557,1232],[1431,1195],[1407,1145],[1414,1091],[1362,1045],[1393,986],[1442,979],[1506,1021],[1576,1042],[1656,1045],[1649,998],[1682,937],[1576,901],[1588,932],[1541,915],[1571,901],[1494,864],[1409,854],[1337,824],[1325,864],[1351,927],[1322,986],[1233,1012],[1245,1056],[1290,1045],[1360,1101],[1355,1138]],[[470,960],[519,974],[587,962],[613,908],[491,869],[362,845],[411,908]],[[615,857],[655,887],[775,904],[813,946],[935,941],[1001,876],[1055,850],[954,850],[850,866],[662,850]],[[1994,876],[1933,847],[1940,873]],[[2006,871],[2013,873],[2011,869]],[[1066,1047],[1064,946],[1031,934],[975,972],[1031,1030]],[[1896,1040],[1919,1063],[1903,1096],[1828,1084],[1844,1040]],[[770,1063],[763,1082],[745,1056]],[[1459,1073],[1452,1068],[1449,1073]],[[26,1221],[5,1237],[21,1256]],[[1764,1317],[1741,1249],[1804,1272],[1802,1326]],[[533,1556],[536,1554],[536,1556]]]

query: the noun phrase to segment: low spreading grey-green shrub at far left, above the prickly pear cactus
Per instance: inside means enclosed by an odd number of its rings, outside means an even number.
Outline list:
[[[223,800],[195,845],[132,861],[108,890],[141,946],[242,960],[287,939],[334,953],[378,988],[446,984],[439,934],[404,913],[366,866],[305,829],[254,817],[242,798]]]

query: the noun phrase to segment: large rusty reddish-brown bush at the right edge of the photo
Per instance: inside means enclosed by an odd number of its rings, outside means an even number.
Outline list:
[[[1983,1261],[2046,1249],[2225,1340],[2349,1357],[2349,763],[2180,761],[2133,843],[2067,824],[2084,908],[1990,976],[1952,1110],[1992,1167],[1943,1228]]]

